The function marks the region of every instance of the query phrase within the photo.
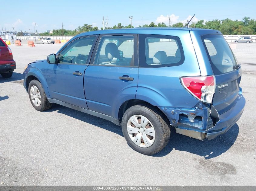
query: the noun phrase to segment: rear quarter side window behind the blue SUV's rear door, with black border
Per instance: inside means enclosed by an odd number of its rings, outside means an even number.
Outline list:
[[[139,35],[139,65],[144,68],[180,65],[184,53],[178,37]]]

